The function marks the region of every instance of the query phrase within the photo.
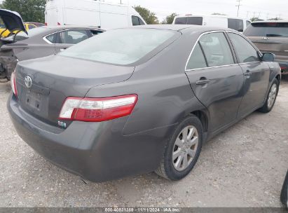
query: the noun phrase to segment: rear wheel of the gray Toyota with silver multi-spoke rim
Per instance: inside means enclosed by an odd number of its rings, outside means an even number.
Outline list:
[[[202,144],[203,126],[199,118],[193,115],[184,118],[167,142],[155,172],[172,181],[183,179],[196,165]]]

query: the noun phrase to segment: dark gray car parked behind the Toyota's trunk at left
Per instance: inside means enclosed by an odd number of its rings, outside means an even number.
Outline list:
[[[45,57],[104,32],[96,27],[55,26],[30,29],[2,39],[0,48],[0,78],[10,80],[18,61]]]

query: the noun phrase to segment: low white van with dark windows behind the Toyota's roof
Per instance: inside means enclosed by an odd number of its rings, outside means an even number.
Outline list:
[[[250,24],[250,20],[246,18],[229,17],[227,15],[178,15],[173,21],[173,25],[226,27],[238,32],[244,32]]]

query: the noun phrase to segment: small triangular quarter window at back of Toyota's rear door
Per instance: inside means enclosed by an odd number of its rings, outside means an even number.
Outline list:
[[[199,43],[197,43],[191,57],[188,60],[186,69],[199,69],[204,67],[207,67],[205,57]]]

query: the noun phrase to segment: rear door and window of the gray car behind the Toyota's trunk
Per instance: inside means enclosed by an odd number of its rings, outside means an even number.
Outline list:
[[[67,29],[58,32],[55,52],[59,53],[60,51],[65,50],[76,43],[84,41],[89,37],[90,36],[86,29]]]

